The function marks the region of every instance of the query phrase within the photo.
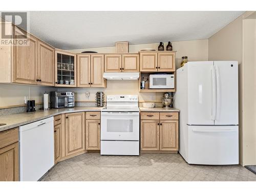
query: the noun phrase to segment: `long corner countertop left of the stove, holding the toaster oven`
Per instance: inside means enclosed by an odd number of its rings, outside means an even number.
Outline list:
[[[31,113],[18,113],[11,115],[0,116],[0,123],[6,123],[6,125],[0,126],[0,132],[12,129],[17,126],[25,125],[55,115],[63,113],[85,112],[85,111],[101,111],[104,107],[96,106],[75,106],[74,108],[62,108],[62,109],[50,109],[48,111],[37,110]]]

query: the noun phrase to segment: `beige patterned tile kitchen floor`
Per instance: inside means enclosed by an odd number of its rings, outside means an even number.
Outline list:
[[[240,165],[189,165],[179,154],[83,154],[57,163],[42,181],[256,181]]]

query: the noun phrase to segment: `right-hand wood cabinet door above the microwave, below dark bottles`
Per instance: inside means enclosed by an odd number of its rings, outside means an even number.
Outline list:
[[[158,71],[172,72],[175,71],[175,53],[158,53]]]

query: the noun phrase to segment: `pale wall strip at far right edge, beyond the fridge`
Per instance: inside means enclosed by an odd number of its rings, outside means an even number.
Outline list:
[[[256,18],[256,17],[254,17]],[[256,165],[256,19],[243,20],[243,161]]]

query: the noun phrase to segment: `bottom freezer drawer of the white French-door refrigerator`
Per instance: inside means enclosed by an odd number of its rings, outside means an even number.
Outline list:
[[[188,163],[239,163],[238,126],[188,126]]]

